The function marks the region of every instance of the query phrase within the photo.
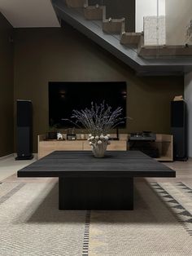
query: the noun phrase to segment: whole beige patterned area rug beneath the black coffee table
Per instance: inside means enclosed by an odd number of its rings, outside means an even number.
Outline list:
[[[191,255],[191,196],[184,183],[137,181],[133,211],[65,211],[55,181],[5,181],[0,255]]]

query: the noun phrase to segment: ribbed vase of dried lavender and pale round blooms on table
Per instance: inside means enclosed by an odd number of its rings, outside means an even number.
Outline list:
[[[121,117],[123,108],[116,108],[114,111],[111,106],[105,104],[91,103],[91,108],[78,111],[73,110],[72,118],[76,121],[79,128],[85,128],[89,132],[89,144],[93,149],[94,157],[104,157],[107,145],[110,143],[109,130],[124,122],[126,117]],[[81,126],[79,126],[79,124]]]

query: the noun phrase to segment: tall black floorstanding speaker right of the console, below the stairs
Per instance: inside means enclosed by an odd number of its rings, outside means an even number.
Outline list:
[[[186,161],[187,152],[187,110],[184,100],[171,102],[171,129],[173,135],[173,159]]]

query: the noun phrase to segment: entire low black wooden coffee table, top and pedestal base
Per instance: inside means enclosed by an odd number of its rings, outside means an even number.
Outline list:
[[[17,172],[18,177],[59,177],[59,210],[133,210],[134,177],[175,177],[176,172],[137,151],[55,151]]]

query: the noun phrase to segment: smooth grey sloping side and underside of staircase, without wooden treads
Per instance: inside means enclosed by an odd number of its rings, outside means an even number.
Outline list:
[[[154,59],[144,59],[137,55],[137,46],[124,46],[120,44],[120,35],[104,33],[101,20],[85,20],[82,8],[68,8],[63,0],[53,0],[52,4],[59,20],[64,20],[85,34],[87,38],[92,39],[99,46],[111,52],[112,55],[133,68],[137,75],[178,76],[192,71],[191,56],[188,58],[185,56],[165,56],[163,58],[157,55]]]

